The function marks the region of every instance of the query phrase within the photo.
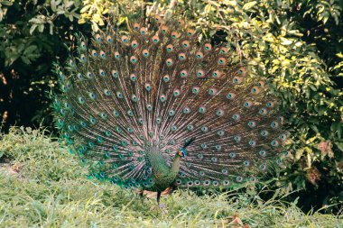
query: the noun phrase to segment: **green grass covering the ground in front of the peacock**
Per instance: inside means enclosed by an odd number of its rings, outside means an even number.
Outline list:
[[[45,132],[46,133],[46,132]],[[176,191],[144,201],[132,191],[85,177],[85,170],[43,131],[0,136],[0,227],[341,227],[342,216],[304,214],[280,197],[254,191],[196,196]],[[244,226],[244,225],[246,226]]]

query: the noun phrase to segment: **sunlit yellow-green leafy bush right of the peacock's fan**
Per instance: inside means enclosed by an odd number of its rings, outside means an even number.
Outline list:
[[[290,188],[311,191],[311,204],[342,202],[343,93],[335,81],[342,76],[343,3],[192,1],[180,7],[214,39],[224,32],[249,59],[252,75],[273,83],[292,132],[295,162],[284,177]]]

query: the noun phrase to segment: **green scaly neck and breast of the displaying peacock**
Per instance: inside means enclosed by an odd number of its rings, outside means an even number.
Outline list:
[[[176,151],[175,151],[176,152]],[[163,191],[171,187],[179,174],[181,157],[178,153],[172,162],[172,167],[167,165],[162,153],[158,148],[152,147],[146,150],[147,157],[153,169],[154,187],[153,190]]]

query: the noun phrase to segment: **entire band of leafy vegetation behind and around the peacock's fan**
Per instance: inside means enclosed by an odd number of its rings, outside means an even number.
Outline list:
[[[90,34],[115,14],[138,9],[184,14],[212,41],[241,51],[251,75],[273,84],[292,133],[292,163],[272,188],[300,197],[308,211],[343,201],[343,1],[0,0],[1,131],[12,125],[54,132],[49,93],[53,62],[63,62],[76,32]],[[124,14],[125,13],[125,14]]]

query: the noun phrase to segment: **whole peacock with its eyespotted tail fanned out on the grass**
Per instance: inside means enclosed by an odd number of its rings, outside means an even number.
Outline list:
[[[202,39],[200,39],[200,37]],[[79,35],[56,67],[61,139],[89,177],[120,187],[229,188],[287,155],[283,116],[262,77],[225,43],[160,15]]]

